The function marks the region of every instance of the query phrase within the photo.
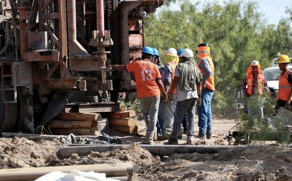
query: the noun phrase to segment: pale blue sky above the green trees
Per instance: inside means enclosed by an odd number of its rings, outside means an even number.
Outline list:
[[[197,0],[190,0],[191,2],[197,2]],[[205,0],[224,2],[228,0]],[[255,0],[260,4],[260,12],[264,14],[268,24],[277,25],[282,18],[287,18],[288,15],[285,13],[285,8],[292,8],[292,0]],[[175,5],[171,5],[170,8],[177,8]]]

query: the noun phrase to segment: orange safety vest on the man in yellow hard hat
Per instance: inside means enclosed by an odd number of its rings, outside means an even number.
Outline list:
[[[284,73],[281,72],[280,74],[280,79],[279,79],[279,91],[278,91],[278,97],[277,99],[281,99],[284,101],[287,101],[289,99],[289,94],[290,94],[290,84],[288,82],[288,75],[290,74],[291,70],[288,70]],[[292,100],[292,98],[290,98]]]

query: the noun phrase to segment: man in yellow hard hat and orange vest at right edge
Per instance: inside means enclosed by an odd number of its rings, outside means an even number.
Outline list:
[[[280,55],[278,63],[282,72],[279,77],[279,91],[275,109],[286,107],[292,110],[292,71],[288,68],[290,59],[287,55]]]

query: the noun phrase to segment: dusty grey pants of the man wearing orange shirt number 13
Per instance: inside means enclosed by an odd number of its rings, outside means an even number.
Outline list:
[[[153,140],[153,132],[156,128],[160,96],[144,97],[139,98],[139,100],[143,118],[147,127],[146,139],[147,141],[148,139]]]

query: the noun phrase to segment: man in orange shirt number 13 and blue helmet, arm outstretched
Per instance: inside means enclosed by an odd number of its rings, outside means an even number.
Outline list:
[[[156,64],[151,62],[153,50],[144,47],[142,60],[127,65],[113,65],[113,70],[133,72],[135,76],[137,98],[140,100],[142,114],[146,123],[146,143],[153,144],[154,129],[158,117],[160,96],[166,99],[166,92],[161,80],[161,74]]]

